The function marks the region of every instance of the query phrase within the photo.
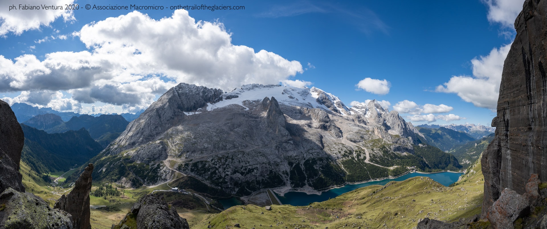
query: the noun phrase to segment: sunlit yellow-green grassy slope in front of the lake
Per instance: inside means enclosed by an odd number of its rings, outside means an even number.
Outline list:
[[[425,217],[454,221],[480,213],[484,177],[479,162],[468,169],[468,173],[454,187],[445,187],[429,178],[415,177],[393,181],[385,186],[363,187],[328,201],[313,203],[312,208],[273,205],[272,210],[267,211],[255,205],[245,208],[235,206],[210,215],[194,228],[207,228],[208,221],[211,221],[213,228],[240,224],[242,228],[321,225],[329,229],[341,228],[346,224],[362,228],[378,228],[384,224],[387,228],[412,228],[417,225],[418,219]]]

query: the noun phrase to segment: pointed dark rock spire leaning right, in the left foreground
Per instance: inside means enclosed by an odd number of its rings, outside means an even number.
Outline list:
[[[91,173],[93,164],[85,167],[84,172],[74,184],[68,195],[62,195],[55,203],[55,208],[65,210],[72,215],[75,229],[90,229],[89,193],[91,192]]]

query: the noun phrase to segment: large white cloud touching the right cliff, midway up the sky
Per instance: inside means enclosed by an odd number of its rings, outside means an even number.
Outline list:
[[[473,77],[453,76],[447,83],[437,86],[435,91],[456,93],[465,102],[476,107],[496,109],[499,97],[499,84],[502,80],[503,62],[511,44],[492,49],[487,56],[474,58]]]

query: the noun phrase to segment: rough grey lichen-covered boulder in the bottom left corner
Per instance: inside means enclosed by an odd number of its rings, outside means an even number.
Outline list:
[[[8,187],[0,194],[0,228],[5,229],[72,229],[72,216],[52,209],[32,193]],[[89,207],[88,207],[89,208]]]

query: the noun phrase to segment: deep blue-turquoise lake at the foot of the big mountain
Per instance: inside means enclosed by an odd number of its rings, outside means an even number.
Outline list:
[[[359,189],[359,187],[366,187],[369,185],[385,185],[389,183],[389,181],[403,181],[412,177],[428,177],[444,186],[449,186],[450,184],[458,181],[459,176],[461,176],[462,174],[463,173],[451,173],[451,172],[430,173],[430,174],[409,173],[395,179],[384,179],[380,181],[369,181],[363,184],[345,185],[337,189],[331,189],[329,191],[322,192],[321,195],[315,195],[315,194],[308,195],[305,192],[287,192],[283,196],[277,195],[276,193],[276,196],[277,198],[279,198],[279,200],[283,204],[290,204],[294,206],[304,206],[313,202],[326,201],[329,198],[334,198],[346,192]],[[241,202],[238,201],[236,198],[221,199],[219,202],[222,203],[222,205],[224,206],[224,209],[228,209],[232,206],[241,204]]]

